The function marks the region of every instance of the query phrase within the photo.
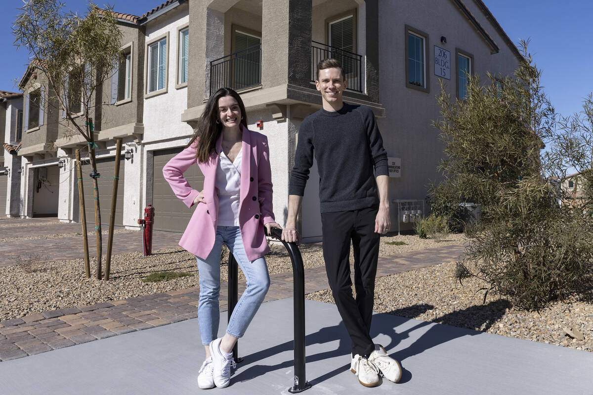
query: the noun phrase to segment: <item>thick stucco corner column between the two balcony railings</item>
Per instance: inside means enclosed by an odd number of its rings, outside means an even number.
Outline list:
[[[311,79],[311,0],[263,0],[262,85],[308,86]]]

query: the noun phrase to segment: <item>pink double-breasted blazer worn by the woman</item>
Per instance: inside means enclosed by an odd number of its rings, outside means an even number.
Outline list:
[[[247,259],[253,261],[269,251],[263,224],[274,222],[272,211],[272,171],[270,170],[267,137],[256,131],[243,130],[241,148],[241,188],[239,193],[239,227]],[[216,142],[216,152],[221,152],[222,134]],[[204,198],[206,204],[198,203],[192,219],[187,224],[179,245],[199,258],[206,259],[212,251],[216,236],[218,217],[218,192],[214,186],[216,180],[215,160],[200,163],[196,160],[196,145],[187,147],[162,168],[162,174],[171,186],[174,194],[187,207],[199,191],[190,187],[183,177],[189,166],[197,163],[204,175]]]

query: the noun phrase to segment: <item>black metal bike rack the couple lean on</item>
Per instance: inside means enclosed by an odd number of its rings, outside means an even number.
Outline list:
[[[294,299],[294,359],[295,375],[294,386],[288,388],[292,394],[296,394],[311,388],[311,384],[305,379],[305,269],[302,265],[301,251],[297,243],[287,243],[282,240],[282,229],[272,228],[272,236],[278,239],[285,246],[292,261],[293,272],[293,299]],[[232,310],[238,301],[238,265],[232,253],[228,257],[228,320],[231,320]],[[238,343],[238,342],[237,342]],[[238,344],[232,349],[232,356],[236,362],[243,361],[238,357]]]

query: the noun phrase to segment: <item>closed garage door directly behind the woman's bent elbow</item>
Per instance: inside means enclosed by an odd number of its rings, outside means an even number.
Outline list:
[[[154,229],[169,232],[183,232],[192,216],[194,208],[187,206],[171,191],[171,187],[162,176],[162,167],[181,152],[181,147],[154,152],[154,180],[152,184],[152,205],[154,205]],[[190,166],[183,174],[189,185],[201,191],[204,186],[204,176],[197,165]]]

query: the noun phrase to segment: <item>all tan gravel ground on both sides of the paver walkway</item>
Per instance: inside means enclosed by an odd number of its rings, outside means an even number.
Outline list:
[[[58,237],[46,237],[54,236]],[[389,244],[393,242],[406,245]],[[463,235],[449,235],[439,241],[417,236],[385,236],[381,238],[380,255],[464,242]],[[285,251],[282,245],[272,245],[266,256],[270,274],[292,270]],[[320,244],[302,245],[301,253],[305,268],[323,265]],[[25,253],[19,257],[23,264],[0,268],[0,320],[199,285],[195,257],[181,248],[162,249],[146,258],[141,252],[114,255],[110,281],[85,278],[82,259],[30,262],[27,256]],[[91,277],[94,267],[91,263]],[[486,304],[482,304],[483,291],[476,292],[480,283],[467,279],[462,286],[452,277],[453,270],[454,262],[450,262],[378,278],[375,311],[593,351],[593,304],[572,300],[530,312],[514,309],[494,295],[489,295]],[[156,271],[183,271],[193,276],[163,282],[141,281]],[[241,271],[239,275],[242,276]],[[227,278],[225,264],[221,266],[221,278],[223,281]],[[333,303],[328,290],[307,297]],[[572,326],[585,335],[584,341],[565,336],[563,328]]]

